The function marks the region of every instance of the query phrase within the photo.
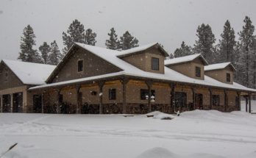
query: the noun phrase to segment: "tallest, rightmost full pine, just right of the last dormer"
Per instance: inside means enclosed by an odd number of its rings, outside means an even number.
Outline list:
[[[255,26],[252,25],[252,21],[251,19],[246,16],[246,18],[243,20],[243,22],[245,23],[245,25],[243,26],[243,30],[241,32],[238,33],[239,40],[241,41],[241,46],[242,46],[242,51],[241,53],[243,53],[243,63],[245,65],[243,65],[245,68],[245,85],[248,87],[249,86],[249,64],[250,62],[252,62],[252,60],[250,60],[250,57],[252,56],[251,54],[251,50],[252,50],[252,43],[254,40],[254,31],[255,31]],[[240,61],[241,62],[241,61]]]

